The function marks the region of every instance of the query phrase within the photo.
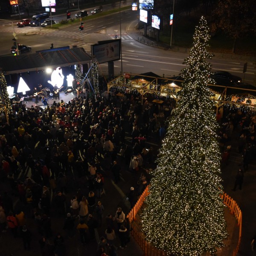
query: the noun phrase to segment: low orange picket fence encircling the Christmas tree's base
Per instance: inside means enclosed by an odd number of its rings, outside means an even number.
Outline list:
[[[149,189],[149,186],[146,187],[146,189],[140,196],[137,203],[134,205],[134,207],[128,213],[127,217],[129,218],[130,223],[135,219],[135,216],[138,213],[138,211],[140,210],[140,208],[142,207],[145,198],[148,196],[148,194],[149,194],[148,189]],[[230,210],[230,213],[235,215],[237,222],[238,222],[239,239],[238,239],[236,249],[233,251],[233,254],[232,254],[232,256],[236,256],[236,254],[238,253],[238,250],[239,250],[240,242],[241,242],[242,212],[241,212],[238,204],[236,204],[236,201],[234,201],[229,195],[227,195],[226,193],[223,193],[220,196],[221,196],[221,199],[223,199],[223,203]],[[145,241],[141,232],[138,232],[135,228],[132,230],[131,234],[134,237],[137,244],[139,244],[139,246],[142,248],[145,256],[168,256],[167,253],[164,252],[163,250],[158,250],[157,248],[155,248],[154,246],[149,244],[147,241]]]

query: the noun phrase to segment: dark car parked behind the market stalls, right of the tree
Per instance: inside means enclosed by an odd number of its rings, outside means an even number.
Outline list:
[[[216,71],[212,75],[212,79],[215,80],[218,85],[232,85],[238,86],[242,79],[239,76],[234,76],[227,71]]]

